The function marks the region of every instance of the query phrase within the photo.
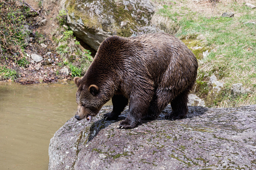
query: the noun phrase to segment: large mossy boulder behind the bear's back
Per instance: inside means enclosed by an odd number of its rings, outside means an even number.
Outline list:
[[[156,32],[151,25],[155,7],[149,0],[60,0],[75,36],[96,51],[109,36],[137,36]]]

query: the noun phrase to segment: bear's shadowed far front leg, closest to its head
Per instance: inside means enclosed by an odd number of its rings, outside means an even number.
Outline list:
[[[104,114],[103,118],[105,118],[105,120],[116,120],[121,112],[124,111],[128,101],[129,100],[123,95],[114,95],[112,97],[113,110],[112,112]]]

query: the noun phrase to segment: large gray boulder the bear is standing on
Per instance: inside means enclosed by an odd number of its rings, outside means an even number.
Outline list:
[[[49,169],[256,169],[256,105],[189,107],[187,118],[145,121],[117,129],[105,121],[105,106],[93,118],[68,120],[52,137]]]

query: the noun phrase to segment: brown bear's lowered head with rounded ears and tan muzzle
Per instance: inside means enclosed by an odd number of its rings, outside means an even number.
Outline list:
[[[88,121],[91,121],[92,116],[97,115],[105,103],[101,101],[100,89],[97,85],[88,85],[81,82],[81,80],[79,77],[74,78],[74,83],[78,87],[75,94],[78,105],[75,118],[77,120],[86,118]]]

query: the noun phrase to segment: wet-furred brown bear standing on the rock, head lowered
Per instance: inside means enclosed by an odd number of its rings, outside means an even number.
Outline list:
[[[118,128],[134,128],[143,119],[155,119],[168,103],[173,111],[165,118],[184,118],[197,68],[195,55],[173,35],[108,37],[86,74],[74,78],[78,87],[75,118],[91,121],[110,99],[113,111],[104,114],[106,120],[117,119],[129,102],[128,116]]]

